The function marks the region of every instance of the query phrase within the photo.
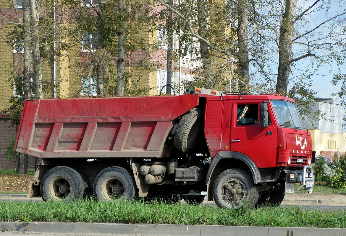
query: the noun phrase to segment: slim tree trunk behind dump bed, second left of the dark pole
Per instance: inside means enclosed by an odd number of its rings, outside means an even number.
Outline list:
[[[99,26],[98,26],[98,38],[97,38],[97,49],[101,52],[101,58],[97,66],[97,77],[96,77],[96,93],[99,96],[104,96],[104,63],[106,62],[106,55],[104,54],[103,50],[103,42],[104,42],[104,29],[103,29],[103,13],[102,13],[102,7],[104,4],[104,0],[101,0],[99,3],[99,12],[100,12],[100,19],[99,19]]]

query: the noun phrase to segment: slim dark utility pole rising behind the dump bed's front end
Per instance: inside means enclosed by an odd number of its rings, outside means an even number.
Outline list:
[[[170,7],[173,7],[173,0],[168,0]],[[172,27],[172,11],[168,11],[167,19],[167,34],[168,34],[168,45],[167,45],[167,86],[166,94],[171,94],[172,85],[172,50],[173,50],[173,27]]]

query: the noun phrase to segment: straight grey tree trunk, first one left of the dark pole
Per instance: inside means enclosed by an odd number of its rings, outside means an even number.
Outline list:
[[[126,11],[125,0],[120,0],[118,3],[118,10],[120,13]],[[118,32],[118,65],[117,65],[117,91],[116,95],[124,96],[124,86],[125,86],[125,29],[126,22],[124,14],[122,13],[121,27]]]

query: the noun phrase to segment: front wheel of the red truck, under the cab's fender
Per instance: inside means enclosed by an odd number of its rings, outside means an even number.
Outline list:
[[[254,207],[258,199],[258,187],[253,179],[242,169],[227,169],[219,174],[213,186],[216,205],[233,208],[243,205]]]

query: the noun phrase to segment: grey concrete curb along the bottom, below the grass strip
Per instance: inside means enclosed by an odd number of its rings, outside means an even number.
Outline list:
[[[47,233],[116,233],[136,235],[172,236],[240,236],[240,235],[294,235],[294,236],[345,236],[346,228],[298,228],[298,227],[254,227],[217,225],[153,225],[111,223],[53,223],[53,222],[0,222],[0,231]]]

